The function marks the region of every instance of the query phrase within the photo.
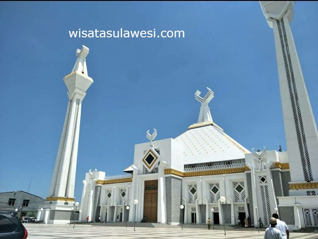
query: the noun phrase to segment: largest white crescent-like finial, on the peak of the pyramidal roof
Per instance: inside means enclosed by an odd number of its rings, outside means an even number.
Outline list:
[[[208,93],[204,96],[204,98],[200,96],[201,92],[199,90],[197,90],[196,93],[194,94],[195,99],[201,103],[198,123],[207,122],[207,121],[213,122],[212,116],[210,113],[209,102],[213,99],[214,92],[208,87],[206,89],[208,89]]]

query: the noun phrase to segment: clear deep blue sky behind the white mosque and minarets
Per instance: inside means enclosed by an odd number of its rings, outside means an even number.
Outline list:
[[[291,28],[318,118],[318,3]],[[89,169],[121,173],[134,145],[197,122],[196,90],[245,146],[286,150],[273,32],[258,2],[1,2],[0,191],[49,192],[67,107],[64,76],[86,45],[94,83],[82,103],[76,201]],[[185,38],[70,38],[69,30],[184,30]]]

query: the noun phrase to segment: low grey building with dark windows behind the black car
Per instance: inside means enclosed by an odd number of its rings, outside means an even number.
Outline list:
[[[38,213],[38,205],[44,204],[44,198],[24,191],[13,191],[0,193],[1,211],[21,211],[20,216],[27,216],[28,213]]]

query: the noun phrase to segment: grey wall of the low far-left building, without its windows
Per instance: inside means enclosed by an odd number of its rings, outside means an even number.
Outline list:
[[[9,206],[9,198],[14,198],[15,202],[13,206]],[[19,206],[22,206],[23,200],[30,200],[29,205],[22,208],[22,212],[35,212],[35,217],[38,213],[38,205],[46,204],[47,202],[42,197],[24,192],[4,192],[0,193],[0,206],[2,211],[14,211]]]

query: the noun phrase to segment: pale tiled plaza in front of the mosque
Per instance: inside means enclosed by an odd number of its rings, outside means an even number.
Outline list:
[[[227,230],[224,236],[223,230],[208,230],[194,228],[136,228],[111,227],[91,225],[56,225],[56,224],[24,224],[28,230],[28,238],[31,239],[60,239],[60,238],[215,238],[215,239],[260,239],[264,238],[264,231],[255,230]],[[318,234],[291,233],[290,239],[316,239]]]

